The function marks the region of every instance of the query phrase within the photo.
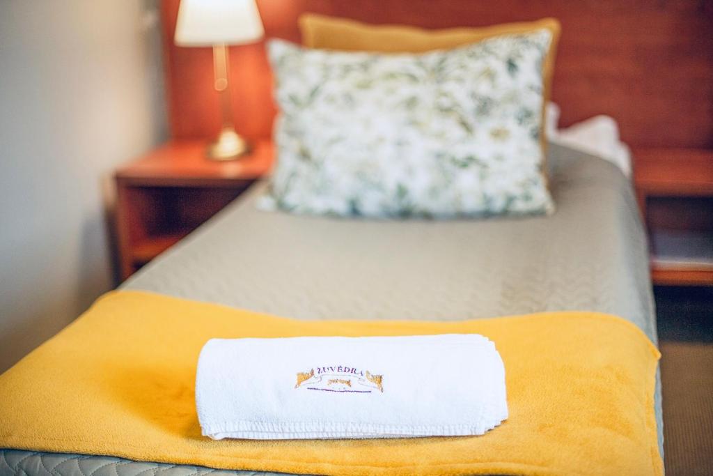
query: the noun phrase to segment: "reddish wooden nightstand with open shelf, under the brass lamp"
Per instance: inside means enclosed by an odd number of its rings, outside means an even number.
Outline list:
[[[236,161],[205,158],[205,142],[169,142],[116,171],[120,278],[188,235],[272,166],[272,144]]]

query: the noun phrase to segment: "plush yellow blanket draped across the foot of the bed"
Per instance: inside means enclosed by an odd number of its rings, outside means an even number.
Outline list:
[[[193,389],[209,338],[435,333],[496,343],[510,409],[503,425],[407,440],[200,435]],[[0,376],[0,447],[326,475],[661,475],[659,356],[635,325],[597,313],[305,322],[118,291]]]

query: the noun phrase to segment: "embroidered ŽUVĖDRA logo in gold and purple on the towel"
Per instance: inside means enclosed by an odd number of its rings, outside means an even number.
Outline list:
[[[359,370],[355,367],[317,367],[317,372],[297,373],[297,384],[294,388],[307,390],[322,390],[338,393],[372,393],[376,390],[384,392],[383,375],[374,375],[369,370]]]

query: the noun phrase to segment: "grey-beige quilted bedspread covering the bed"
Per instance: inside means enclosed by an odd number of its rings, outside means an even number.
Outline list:
[[[299,319],[462,320],[548,310],[619,315],[657,341],[645,233],[611,163],[551,145],[553,216],[379,221],[259,211],[258,183],[127,280]],[[656,412],[662,451],[660,385]],[[0,450],[0,473],[133,476],[205,468]],[[253,472],[218,472],[256,474]]]

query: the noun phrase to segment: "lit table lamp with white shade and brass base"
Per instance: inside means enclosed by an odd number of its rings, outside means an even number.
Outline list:
[[[222,128],[207,156],[231,160],[250,146],[235,131],[228,86],[228,45],[257,41],[264,34],[255,0],[181,0],[174,41],[178,46],[212,46],[215,91],[220,94]]]

